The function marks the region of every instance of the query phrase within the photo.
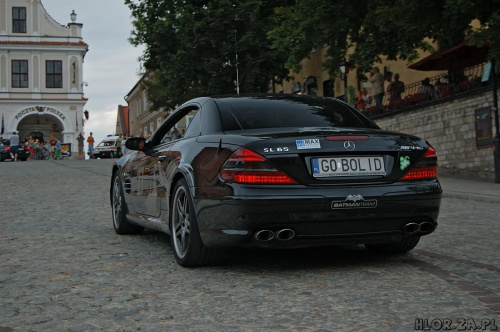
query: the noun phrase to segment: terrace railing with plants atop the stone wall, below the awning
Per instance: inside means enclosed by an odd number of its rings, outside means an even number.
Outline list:
[[[486,75],[485,74],[486,70]],[[486,76],[483,79],[483,76]],[[401,98],[384,95],[382,107],[366,109],[370,117],[377,117],[390,112],[419,107],[426,104],[450,100],[489,86],[489,64],[483,63],[459,71],[430,77],[428,82],[420,81],[405,85]]]

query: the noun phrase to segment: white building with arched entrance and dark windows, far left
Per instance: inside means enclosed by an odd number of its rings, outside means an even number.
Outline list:
[[[40,0],[0,0],[0,116],[3,137],[17,131],[45,141],[72,143],[83,132],[82,67],[88,45],[83,24],[56,22]]]

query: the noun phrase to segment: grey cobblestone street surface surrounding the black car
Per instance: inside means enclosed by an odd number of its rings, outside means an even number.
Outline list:
[[[500,329],[497,203],[445,197],[437,231],[407,255],[241,249],[189,269],[167,235],[115,234],[112,163],[0,163],[0,332]]]

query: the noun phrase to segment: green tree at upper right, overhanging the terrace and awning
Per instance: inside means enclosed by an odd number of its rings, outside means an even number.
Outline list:
[[[474,43],[488,43],[498,56],[500,0],[296,0],[276,9],[279,25],[270,31],[274,45],[288,57],[286,65],[300,70],[311,50],[328,46],[324,69],[336,76],[342,59],[367,71],[380,56],[414,61],[418,50],[431,51],[431,41],[448,47],[469,33]]]

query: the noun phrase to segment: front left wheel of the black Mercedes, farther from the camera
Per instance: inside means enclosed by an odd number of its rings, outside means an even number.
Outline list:
[[[115,172],[113,175],[111,192],[111,212],[113,214],[113,228],[120,235],[124,234],[140,234],[144,227],[130,223],[127,220],[127,203],[123,195],[122,181],[120,172]]]

